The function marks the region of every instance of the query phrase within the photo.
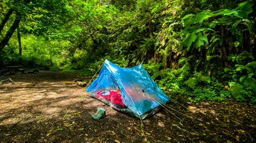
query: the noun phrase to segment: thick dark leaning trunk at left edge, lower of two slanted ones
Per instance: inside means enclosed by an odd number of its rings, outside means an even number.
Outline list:
[[[11,25],[10,29],[8,30],[8,32],[6,33],[6,36],[4,37],[4,39],[0,42],[0,52],[3,50],[3,48],[8,44],[9,40],[11,39],[11,36],[13,35],[13,33],[15,32],[15,30],[17,29],[17,27],[19,26],[19,22],[21,21],[21,19],[19,19],[18,16],[16,16],[16,19],[13,22],[13,25]]]

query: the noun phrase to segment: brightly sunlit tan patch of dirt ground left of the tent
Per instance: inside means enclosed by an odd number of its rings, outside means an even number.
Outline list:
[[[24,118],[31,118],[38,113],[43,114],[45,116],[44,118],[60,116],[72,104],[84,101],[84,96],[80,98],[82,95],[78,95],[79,93],[83,93],[84,89],[74,90],[72,86],[65,88],[63,85],[61,85],[63,89],[58,89],[58,84],[45,81],[42,84],[37,83],[37,85],[31,88],[25,87],[30,85],[30,83],[18,82],[11,83],[11,89],[2,88],[0,113],[9,113],[11,116],[9,118],[6,117],[6,119],[1,121],[1,124],[18,123],[23,121]],[[19,112],[22,110],[23,115],[20,116],[17,110]]]

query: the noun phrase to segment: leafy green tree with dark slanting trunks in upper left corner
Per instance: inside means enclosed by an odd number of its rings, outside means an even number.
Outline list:
[[[69,20],[68,1],[1,1],[0,52],[8,44],[15,30],[21,25],[23,32],[47,35]],[[7,30],[8,29],[8,30]]]

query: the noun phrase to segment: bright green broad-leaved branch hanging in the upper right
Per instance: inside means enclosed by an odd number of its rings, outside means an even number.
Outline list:
[[[200,51],[202,46],[208,45],[207,35],[214,32],[217,25],[232,25],[232,31],[236,30],[233,34],[238,34],[240,28],[237,25],[241,22],[250,27],[250,21],[246,19],[250,12],[252,12],[252,4],[245,1],[232,10],[220,9],[212,12],[207,9],[197,14],[188,14],[182,18],[184,29],[180,34],[184,34],[185,38],[180,43],[180,47],[187,47],[189,51],[193,44],[193,47]]]

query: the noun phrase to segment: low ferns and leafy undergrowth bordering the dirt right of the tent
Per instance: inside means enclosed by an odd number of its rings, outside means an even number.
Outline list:
[[[243,55],[242,55],[243,54]],[[218,75],[191,72],[187,58],[179,60],[181,68],[155,70],[156,65],[145,65],[152,77],[168,95],[185,96],[190,101],[218,101],[230,99],[256,103],[256,62],[250,53],[230,56],[235,66],[218,71]],[[245,56],[245,57],[242,57]],[[218,80],[221,79],[221,80]]]

